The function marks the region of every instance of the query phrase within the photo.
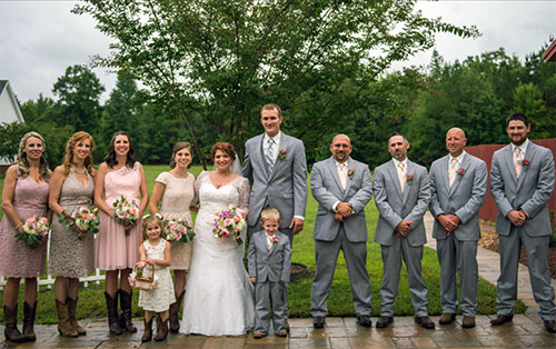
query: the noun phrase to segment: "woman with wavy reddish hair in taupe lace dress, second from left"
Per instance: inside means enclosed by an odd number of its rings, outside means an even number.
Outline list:
[[[83,131],[73,133],[66,144],[63,163],[54,169],[50,181],[49,206],[54,217],[50,237],[48,272],[56,276],[54,299],[60,336],[78,337],[87,333],[76,319],[79,278],[95,269],[95,238],[92,232],[77,226],[67,228],[70,215],[81,207],[90,207],[95,191],[95,169],[91,151],[92,137]],[[60,222],[63,216],[66,221]]]

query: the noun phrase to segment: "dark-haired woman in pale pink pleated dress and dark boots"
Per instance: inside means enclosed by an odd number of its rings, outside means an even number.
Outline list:
[[[125,227],[112,217],[112,203],[121,196],[133,200],[142,217],[149,201],[147,180],[142,166],[135,160],[133,144],[126,132],[116,132],[108,146],[106,161],[99,166],[95,182],[95,205],[100,212],[100,231],[97,245],[97,268],[106,273],[105,298],[108,309],[110,333],[123,330],[137,332],[131,322],[131,286],[128,277],[139,260],[138,249],[142,242],[141,220]],[[126,229],[130,232],[126,236]],[[118,276],[120,283],[118,288]],[[121,315],[118,317],[118,295]]]

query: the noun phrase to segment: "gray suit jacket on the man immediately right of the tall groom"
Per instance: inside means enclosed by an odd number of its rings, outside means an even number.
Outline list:
[[[336,201],[354,206],[355,215],[344,219],[346,238],[351,242],[367,241],[367,223],[365,206],[373,197],[373,180],[369,168],[351,158],[348,160],[346,189],[341,188],[338,168],[332,157],[312,166],[311,191],[318,201],[317,218],[312,238],[315,240],[332,241],[340,229],[340,222],[334,219],[331,207]]]

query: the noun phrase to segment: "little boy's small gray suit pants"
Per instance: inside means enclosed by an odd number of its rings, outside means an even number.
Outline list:
[[[284,290],[287,283],[282,282],[255,282],[255,332],[268,335],[270,327],[270,308],[272,308],[272,327],[275,333],[286,330],[284,327]]]

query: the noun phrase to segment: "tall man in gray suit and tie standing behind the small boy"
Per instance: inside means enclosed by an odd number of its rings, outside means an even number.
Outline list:
[[[265,104],[260,123],[265,133],[249,139],[246,144],[242,176],[252,180],[249,197],[249,236],[262,230],[260,212],[272,207],[280,212],[280,231],[294,242],[294,235],[304,229],[307,206],[307,160],[304,142],[280,131],[281,109]],[[284,292],[286,318],[289,316],[288,292]],[[286,320],[286,328],[289,325]]]

